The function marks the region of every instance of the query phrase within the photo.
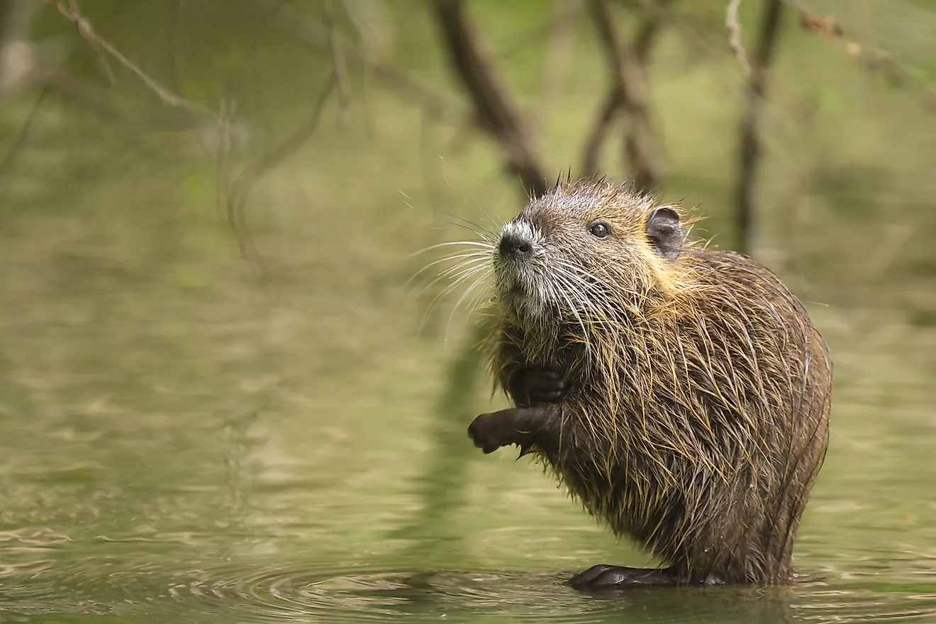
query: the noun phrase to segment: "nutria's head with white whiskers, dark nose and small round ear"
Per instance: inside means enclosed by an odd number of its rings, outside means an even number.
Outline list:
[[[522,325],[622,321],[679,272],[685,234],[676,207],[627,187],[557,184],[501,228],[499,304]]]

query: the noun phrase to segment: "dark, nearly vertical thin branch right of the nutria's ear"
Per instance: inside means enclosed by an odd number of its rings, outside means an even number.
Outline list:
[[[768,69],[777,49],[777,39],[783,13],[783,0],[767,0],[761,18],[757,50],[754,52],[751,75],[745,92],[745,109],[741,117],[739,173],[737,189],[738,251],[749,254],[753,239],[754,201],[757,166],[761,155],[760,126],[764,116],[768,87]]]

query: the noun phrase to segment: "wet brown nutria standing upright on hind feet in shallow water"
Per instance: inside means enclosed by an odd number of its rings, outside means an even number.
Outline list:
[[[677,206],[559,181],[489,241],[490,367],[515,407],[485,453],[539,457],[660,569],[596,565],[574,588],[783,584],[826,456],[831,361],[768,268],[689,239]]]

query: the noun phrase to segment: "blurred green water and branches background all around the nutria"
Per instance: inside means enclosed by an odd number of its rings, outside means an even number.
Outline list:
[[[0,0],[0,622],[936,621],[934,80],[931,0]],[[467,438],[417,252],[569,170],[830,343],[793,588],[578,595],[652,561]]]

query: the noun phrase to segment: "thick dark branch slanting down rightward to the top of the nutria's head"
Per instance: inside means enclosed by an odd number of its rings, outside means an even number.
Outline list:
[[[475,122],[505,154],[508,169],[519,176],[528,195],[548,191],[546,168],[534,148],[531,129],[510,100],[477,28],[462,0],[432,0],[448,60],[475,108]]]

